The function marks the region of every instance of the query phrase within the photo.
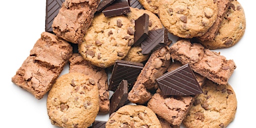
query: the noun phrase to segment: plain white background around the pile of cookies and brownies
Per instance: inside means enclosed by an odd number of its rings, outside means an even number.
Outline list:
[[[237,111],[228,127],[255,127],[255,0],[238,0],[245,11],[246,30],[234,46],[215,50],[233,59],[237,68],[229,79]],[[55,127],[46,111],[46,97],[38,100],[11,82],[44,31],[45,0],[1,0],[0,7],[0,127]],[[230,26],[231,27],[231,26]],[[62,72],[67,72],[67,68]],[[97,117],[107,120],[108,115]]]

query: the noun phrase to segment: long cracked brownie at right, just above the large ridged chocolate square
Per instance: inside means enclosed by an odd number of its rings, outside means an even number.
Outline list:
[[[191,69],[216,82],[227,84],[236,65],[232,59],[204,48],[199,43],[190,43],[188,39],[180,39],[170,46],[170,56],[182,64],[188,63]]]

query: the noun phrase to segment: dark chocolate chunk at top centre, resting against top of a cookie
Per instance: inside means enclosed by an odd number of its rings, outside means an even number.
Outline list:
[[[126,14],[130,12],[130,7],[127,0],[116,0],[102,10],[106,17]]]

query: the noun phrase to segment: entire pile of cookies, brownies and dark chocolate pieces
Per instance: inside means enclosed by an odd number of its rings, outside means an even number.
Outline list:
[[[245,26],[237,0],[47,0],[45,31],[11,81],[48,92],[59,127],[226,127],[236,65],[210,49]]]

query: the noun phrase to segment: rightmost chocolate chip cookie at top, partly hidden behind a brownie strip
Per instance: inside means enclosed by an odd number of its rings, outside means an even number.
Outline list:
[[[244,10],[237,0],[233,0],[220,23],[214,39],[200,41],[200,43],[208,49],[231,47],[242,38],[245,27]]]

